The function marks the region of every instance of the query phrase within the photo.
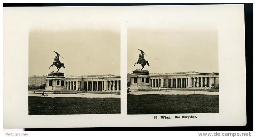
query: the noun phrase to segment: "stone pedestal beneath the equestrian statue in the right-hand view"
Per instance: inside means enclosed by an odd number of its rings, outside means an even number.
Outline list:
[[[147,70],[132,71],[130,88],[151,88],[150,75]]]

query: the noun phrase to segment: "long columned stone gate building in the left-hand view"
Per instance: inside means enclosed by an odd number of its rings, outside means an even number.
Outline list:
[[[66,77],[67,91],[120,91],[121,78],[114,75]]]

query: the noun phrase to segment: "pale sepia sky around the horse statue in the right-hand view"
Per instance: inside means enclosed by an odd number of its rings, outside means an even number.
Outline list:
[[[148,56],[150,73],[219,72],[218,30],[215,29],[127,29],[127,72],[135,65],[141,49]]]

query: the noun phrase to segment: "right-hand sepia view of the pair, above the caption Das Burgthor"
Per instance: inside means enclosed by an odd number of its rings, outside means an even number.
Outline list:
[[[218,28],[127,25],[127,113],[219,113]]]

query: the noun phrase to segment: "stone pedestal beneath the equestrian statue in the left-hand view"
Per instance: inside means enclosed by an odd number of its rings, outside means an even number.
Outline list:
[[[45,91],[66,91],[66,79],[62,72],[48,73]]]

